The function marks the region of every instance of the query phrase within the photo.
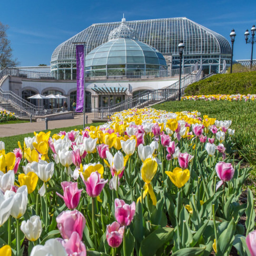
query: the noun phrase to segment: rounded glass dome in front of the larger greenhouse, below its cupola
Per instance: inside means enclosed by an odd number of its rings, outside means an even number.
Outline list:
[[[96,47],[85,58],[86,73],[125,75],[166,69],[163,55],[155,48],[131,38],[117,38]]]

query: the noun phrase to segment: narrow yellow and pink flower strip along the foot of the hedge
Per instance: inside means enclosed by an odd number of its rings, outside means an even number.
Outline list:
[[[216,95],[192,95],[192,96],[183,96],[182,101],[255,101],[256,94],[234,94],[234,95],[225,95],[225,94],[216,94]]]

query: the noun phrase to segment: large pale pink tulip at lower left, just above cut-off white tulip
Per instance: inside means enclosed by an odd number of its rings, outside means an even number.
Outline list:
[[[77,211],[64,211],[56,218],[57,227],[63,239],[70,239],[73,232],[77,232],[82,240],[85,227],[84,215]]]

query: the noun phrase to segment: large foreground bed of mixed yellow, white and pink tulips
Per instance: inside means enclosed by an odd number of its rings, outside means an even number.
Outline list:
[[[231,123],[133,109],[0,142],[0,255],[255,255]]]

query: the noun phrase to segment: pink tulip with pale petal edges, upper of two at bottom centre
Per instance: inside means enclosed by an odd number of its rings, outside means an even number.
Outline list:
[[[135,214],[135,202],[130,205],[126,204],[124,200],[115,199],[115,218],[122,226],[129,226]]]

